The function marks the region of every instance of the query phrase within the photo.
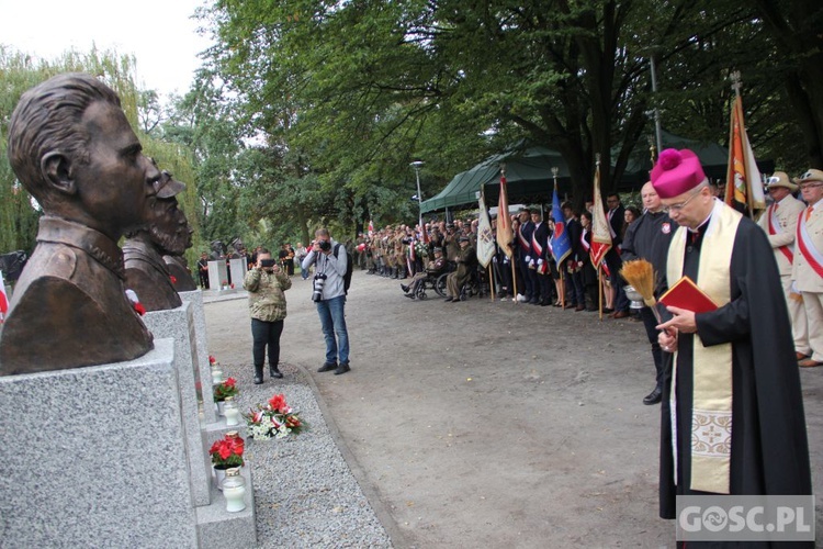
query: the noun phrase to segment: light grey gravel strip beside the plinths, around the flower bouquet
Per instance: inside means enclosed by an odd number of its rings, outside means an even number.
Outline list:
[[[228,358],[228,357],[226,357]],[[250,382],[250,363],[225,363],[241,411],[283,393],[309,428],[298,436],[246,441],[255,485],[258,547],[388,548],[391,540],[335,442],[305,374],[281,365],[274,385]]]

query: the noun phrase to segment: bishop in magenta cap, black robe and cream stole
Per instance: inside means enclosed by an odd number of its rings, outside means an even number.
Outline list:
[[[712,195],[690,150],[661,154],[652,182],[680,225],[668,287],[688,276],[719,305],[669,306],[658,326],[661,517],[675,518],[677,495],[811,494],[791,323],[765,234]]]

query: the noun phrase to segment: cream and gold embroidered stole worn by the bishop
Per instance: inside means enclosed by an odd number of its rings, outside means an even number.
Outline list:
[[[700,246],[697,285],[719,306],[731,301],[730,266],[742,215],[715,201]],[[668,249],[669,283],[683,277],[686,227],[678,228]],[[729,493],[732,452],[732,345],[703,347],[694,337],[691,411],[691,490]],[[677,355],[672,368],[672,446],[677,483]]]

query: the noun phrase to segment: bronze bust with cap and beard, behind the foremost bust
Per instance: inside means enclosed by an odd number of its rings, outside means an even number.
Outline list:
[[[146,311],[182,305],[174,287],[177,274],[164,256],[180,256],[191,246],[191,227],[176,198],[183,189],[184,183],[164,171],[155,183],[155,195],[146,203],[144,227],[128,233],[123,244],[126,287],[135,291]]]

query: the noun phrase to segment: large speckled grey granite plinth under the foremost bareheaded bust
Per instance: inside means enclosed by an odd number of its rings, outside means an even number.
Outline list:
[[[0,545],[199,547],[173,354],[0,377]]]

